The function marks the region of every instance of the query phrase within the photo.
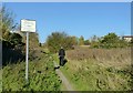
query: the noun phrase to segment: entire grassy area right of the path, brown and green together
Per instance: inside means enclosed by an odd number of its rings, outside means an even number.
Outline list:
[[[129,91],[130,54],[130,49],[75,49],[66,52],[61,71],[76,91]]]

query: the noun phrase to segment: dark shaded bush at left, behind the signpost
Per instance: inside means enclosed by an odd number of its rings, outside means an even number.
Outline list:
[[[24,43],[18,33],[10,33],[8,40],[2,40],[2,65],[22,61],[24,58]]]

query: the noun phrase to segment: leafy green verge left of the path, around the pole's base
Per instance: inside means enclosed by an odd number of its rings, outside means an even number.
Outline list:
[[[8,64],[3,68],[3,91],[60,91],[61,81],[55,74],[53,59],[42,54],[29,62],[29,82],[24,79],[25,62]]]

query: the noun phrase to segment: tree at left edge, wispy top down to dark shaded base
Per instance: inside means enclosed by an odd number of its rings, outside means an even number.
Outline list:
[[[0,9],[0,33],[2,33],[2,64],[6,65],[9,62],[14,63],[23,60],[23,43],[22,37],[18,33],[11,33],[10,31],[16,29],[13,22],[13,13],[6,7]],[[19,46],[19,45],[22,46]],[[13,49],[13,50],[12,50]]]

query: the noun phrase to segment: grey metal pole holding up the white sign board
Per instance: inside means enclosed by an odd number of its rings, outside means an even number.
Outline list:
[[[29,32],[27,32],[27,52],[25,52],[25,80],[28,81],[28,53],[29,53]]]

